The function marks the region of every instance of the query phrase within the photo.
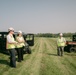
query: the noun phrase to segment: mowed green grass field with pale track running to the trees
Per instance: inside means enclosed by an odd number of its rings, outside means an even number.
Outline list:
[[[9,56],[0,53],[0,75],[76,75],[76,53],[57,56],[56,39],[35,38],[31,49],[24,61],[16,61],[17,68],[11,68]]]

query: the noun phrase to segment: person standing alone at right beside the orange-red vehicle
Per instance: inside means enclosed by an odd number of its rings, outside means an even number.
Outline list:
[[[58,56],[63,56],[65,44],[66,44],[66,40],[63,37],[63,34],[60,33],[60,36],[57,40],[57,54],[58,54]]]

